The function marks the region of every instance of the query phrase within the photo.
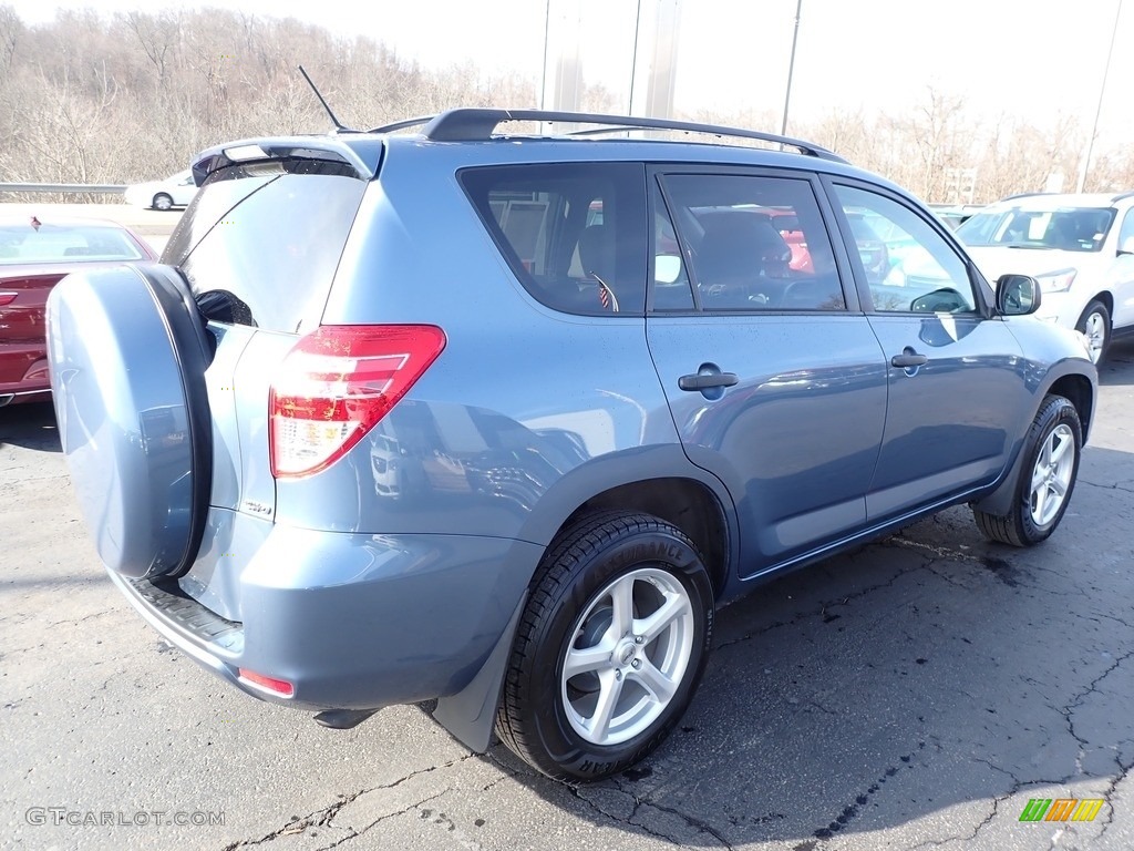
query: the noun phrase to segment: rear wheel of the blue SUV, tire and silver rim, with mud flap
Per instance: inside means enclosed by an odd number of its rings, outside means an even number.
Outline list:
[[[624,605],[633,600],[632,627],[643,627],[661,610],[662,599],[677,614],[652,638],[635,642],[628,629],[615,634],[615,593]],[[596,781],[628,768],[666,740],[693,699],[712,624],[709,574],[680,530],[649,514],[585,517],[551,544],[532,580],[505,674],[497,735],[556,780]],[[608,659],[562,677],[568,654],[601,656],[606,648],[600,644],[612,648]],[[659,672],[662,680],[653,680]],[[643,685],[648,680],[657,683],[655,691]],[[670,686],[662,700],[659,696]],[[607,724],[599,721],[598,708],[604,694],[615,694],[609,705],[621,707],[620,714],[608,713]],[[587,718],[581,708],[592,697],[594,713]],[[591,733],[584,730],[587,722]],[[595,732],[598,725],[602,728]]]

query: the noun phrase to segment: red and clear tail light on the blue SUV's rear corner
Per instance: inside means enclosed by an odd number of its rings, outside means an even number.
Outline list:
[[[324,470],[362,440],[445,348],[429,325],[323,326],[296,344],[272,382],[272,475]]]

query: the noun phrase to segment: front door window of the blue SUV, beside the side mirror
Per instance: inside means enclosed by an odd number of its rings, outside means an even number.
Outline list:
[[[862,266],[874,310],[976,311],[965,261],[929,222],[885,195],[850,186],[835,191],[850,225],[852,259]]]

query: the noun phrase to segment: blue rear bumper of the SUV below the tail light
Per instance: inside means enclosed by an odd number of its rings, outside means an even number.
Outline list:
[[[320,711],[464,689],[506,631],[542,548],[311,531],[214,508],[201,553],[176,583],[111,579],[203,667],[253,697]],[[294,692],[268,691],[240,668]]]

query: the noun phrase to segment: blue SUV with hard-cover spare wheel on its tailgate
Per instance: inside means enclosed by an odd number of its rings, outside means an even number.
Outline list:
[[[325,725],[426,702],[473,749],[608,776],[678,723],[723,601],[957,504],[1036,545],[1072,498],[1082,336],[807,142],[457,109],[194,176],[161,264],[52,294],[61,440],[143,617]],[[878,280],[863,211],[941,276]]]

